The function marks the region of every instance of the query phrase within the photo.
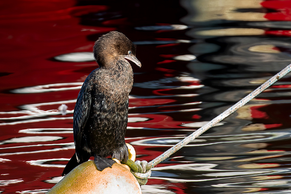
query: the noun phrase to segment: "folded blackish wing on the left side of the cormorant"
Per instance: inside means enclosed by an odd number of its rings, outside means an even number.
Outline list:
[[[83,86],[79,92],[77,102],[74,108],[74,142],[76,147],[76,154],[79,156],[78,150],[83,149],[84,140],[82,139],[83,130],[86,125],[87,119],[90,113],[91,106],[91,88],[90,88],[90,76],[84,81]]]

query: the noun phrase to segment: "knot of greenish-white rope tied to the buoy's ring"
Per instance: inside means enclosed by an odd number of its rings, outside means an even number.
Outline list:
[[[125,163],[131,169],[130,172],[134,175],[136,180],[139,182],[139,185],[145,185],[148,182],[148,178],[150,177],[152,171],[150,168],[147,168],[148,162],[143,161],[132,161],[130,159]]]

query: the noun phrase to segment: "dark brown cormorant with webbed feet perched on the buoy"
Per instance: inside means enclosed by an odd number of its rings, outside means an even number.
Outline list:
[[[117,31],[102,35],[95,42],[93,55],[99,67],[87,76],[78,94],[73,115],[75,154],[62,176],[91,156],[100,171],[115,163],[111,158],[127,161],[125,132],[133,85],[129,61],[141,67],[135,54],[136,45]]]

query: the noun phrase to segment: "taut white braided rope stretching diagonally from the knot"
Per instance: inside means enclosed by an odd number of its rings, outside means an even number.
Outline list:
[[[267,80],[265,83],[263,83],[260,87],[252,91],[249,95],[241,99],[239,102],[228,108],[226,111],[197,129],[195,132],[184,138],[182,141],[168,149],[163,154],[159,155],[157,158],[153,159],[146,165],[146,169],[150,169],[155,167],[158,163],[164,161],[166,158],[168,158],[173,153],[177,152],[180,148],[182,148],[184,145],[187,145],[189,142],[193,141],[195,138],[200,136],[203,132],[207,131],[209,128],[213,127],[215,124],[219,123],[221,120],[226,118],[231,113],[234,113],[237,109],[244,106],[247,102],[249,102],[251,99],[256,97],[258,94],[260,94],[262,91],[264,91],[266,88],[271,86],[273,83],[275,83],[277,80],[281,79],[283,76],[285,76],[287,73],[291,71],[291,64],[285,67],[283,70],[281,70],[279,73],[271,77],[269,80]]]

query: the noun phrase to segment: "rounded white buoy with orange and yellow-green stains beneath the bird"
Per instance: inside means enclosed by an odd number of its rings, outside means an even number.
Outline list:
[[[132,173],[115,163],[112,168],[102,171],[96,169],[93,161],[87,161],[72,170],[59,181],[47,194],[139,194],[141,188]]]

